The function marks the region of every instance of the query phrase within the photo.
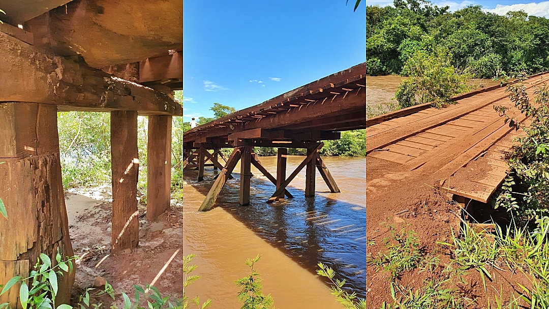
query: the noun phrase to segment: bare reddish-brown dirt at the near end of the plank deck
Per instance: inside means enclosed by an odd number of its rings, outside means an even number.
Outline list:
[[[403,173],[391,162],[366,159],[367,256],[385,252],[383,238],[389,236],[386,224],[394,224],[397,230],[402,227],[412,229],[421,241],[422,252],[440,258],[440,266],[433,271],[414,269],[395,280],[413,290],[421,289],[424,280],[442,278],[442,269],[450,261],[450,250],[437,242],[451,243],[451,233],[458,231],[459,217],[456,214],[459,206],[448,203],[444,192],[436,190],[434,184],[435,179],[430,179],[429,175]],[[475,269],[467,271],[463,277],[465,283],[453,285],[470,299],[468,308],[486,308],[488,301],[493,302],[496,295],[507,300],[511,293],[518,296],[522,289],[517,283],[529,286],[525,277],[512,273],[503,265],[500,268],[503,270],[489,268],[492,280],[487,279],[487,292]],[[389,275],[371,264],[366,266],[368,308],[379,308],[383,301],[393,302]]]

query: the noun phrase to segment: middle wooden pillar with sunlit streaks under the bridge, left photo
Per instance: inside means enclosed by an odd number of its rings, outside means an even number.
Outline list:
[[[137,111],[110,112],[110,153],[113,172],[111,250],[136,248],[139,243]]]

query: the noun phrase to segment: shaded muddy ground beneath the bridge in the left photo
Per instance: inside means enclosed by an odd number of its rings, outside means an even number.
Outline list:
[[[172,210],[161,215],[157,222],[149,222],[144,216],[147,206],[138,203],[138,248],[111,254],[110,185],[66,190],[65,203],[72,248],[82,258],[77,262],[73,305],[79,294],[92,287],[96,277],[103,277],[113,286],[117,301],[121,301],[122,292],[133,295],[134,284],[151,284],[157,276],[154,286],[163,296],[171,295],[174,300],[182,297],[183,218],[177,206],[172,205]],[[103,298],[103,301],[109,300]]]

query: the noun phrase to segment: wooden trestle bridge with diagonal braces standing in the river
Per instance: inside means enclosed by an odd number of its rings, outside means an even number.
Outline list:
[[[305,196],[315,195],[316,169],[330,191],[339,192],[318,150],[324,145],[321,141],[339,139],[340,131],[366,127],[365,72],[366,65],[362,63],[185,132],[186,160],[182,168],[198,167],[199,181],[203,180],[206,161],[221,170],[199,210],[214,206],[238,161],[240,205],[248,205],[250,201],[251,165],[277,187],[269,203],[283,200],[284,195],[292,197],[285,187],[305,166]],[[276,177],[261,165],[254,147],[278,148]],[[234,148],[225,166],[218,162],[220,148]],[[287,148],[307,149],[305,160],[288,177]],[[214,152],[210,154],[208,149]]]

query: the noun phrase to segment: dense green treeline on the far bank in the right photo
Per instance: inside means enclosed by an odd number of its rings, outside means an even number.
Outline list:
[[[549,69],[549,20],[524,11],[506,16],[480,5],[449,12],[422,0],[394,0],[394,7],[366,7],[367,74],[399,74],[418,51],[445,49],[452,65],[474,77]]]

